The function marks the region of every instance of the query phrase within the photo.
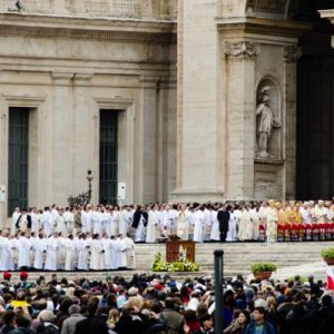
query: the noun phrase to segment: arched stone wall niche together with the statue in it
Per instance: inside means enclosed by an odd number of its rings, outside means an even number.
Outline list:
[[[272,77],[263,77],[256,88],[256,158],[265,160],[282,160],[282,128],[284,115],[279,86]],[[268,125],[268,119],[271,126]],[[268,129],[264,143],[265,129]]]

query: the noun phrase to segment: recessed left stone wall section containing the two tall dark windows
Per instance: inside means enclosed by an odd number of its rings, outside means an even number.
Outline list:
[[[24,1],[21,13],[6,12],[12,1],[1,2],[0,184],[8,186],[9,108],[27,107],[28,205],[66,205],[69,195],[87,190],[88,169],[95,177],[92,202],[98,202],[99,110],[114,109],[119,112],[118,180],[127,185],[126,202],[166,200],[175,188],[173,1],[165,1],[161,12],[160,4],[154,6],[160,1],[151,1],[149,20],[141,10],[149,1],[60,2],[57,16],[55,1]],[[140,19],[98,18],[102,3],[129,16],[125,7],[134,9]],[[0,214],[3,219],[6,202]]]

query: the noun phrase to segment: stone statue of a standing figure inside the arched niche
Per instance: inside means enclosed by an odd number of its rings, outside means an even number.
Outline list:
[[[256,108],[256,127],[257,127],[257,157],[271,158],[268,154],[268,143],[273,127],[281,128],[282,124],[277,119],[269,106],[269,91],[271,87],[265,86],[259,92],[259,104]]]

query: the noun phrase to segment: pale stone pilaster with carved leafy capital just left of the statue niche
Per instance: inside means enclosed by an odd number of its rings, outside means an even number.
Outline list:
[[[226,63],[226,198],[254,197],[255,59],[259,45],[248,41],[224,45]]]

